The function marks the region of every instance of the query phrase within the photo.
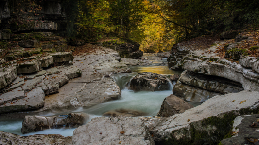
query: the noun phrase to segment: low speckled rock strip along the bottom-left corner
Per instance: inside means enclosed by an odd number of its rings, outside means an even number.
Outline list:
[[[20,136],[0,131],[0,138],[1,145],[72,145],[71,136],[59,134]]]

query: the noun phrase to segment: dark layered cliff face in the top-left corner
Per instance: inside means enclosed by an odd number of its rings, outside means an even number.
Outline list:
[[[12,33],[51,31],[66,34],[68,18],[63,0],[0,0],[0,29]]]

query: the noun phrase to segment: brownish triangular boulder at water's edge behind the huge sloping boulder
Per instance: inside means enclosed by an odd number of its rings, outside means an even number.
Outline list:
[[[193,105],[172,94],[164,99],[157,116],[170,117],[193,107]]]

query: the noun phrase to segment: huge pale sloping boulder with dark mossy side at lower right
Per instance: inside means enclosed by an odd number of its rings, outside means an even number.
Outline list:
[[[151,130],[157,145],[217,145],[235,117],[257,113],[259,92],[214,96],[203,104],[162,120]]]

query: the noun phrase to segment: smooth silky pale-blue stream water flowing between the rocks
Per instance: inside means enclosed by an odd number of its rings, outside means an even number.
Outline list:
[[[173,74],[181,74],[180,71],[172,71],[168,69],[168,66],[159,66],[162,62],[166,62],[166,58],[162,60],[151,60],[153,63],[150,66],[130,66],[133,73],[128,74],[115,74],[112,76],[113,80],[118,84],[121,88],[121,98],[119,100],[104,102],[101,104],[94,105],[90,108],[82,108],[79,107],[71,112],[63,112],[59,114],[68,114],[68,113],[78,113],[84,112],[89,115],[89,118],[86,120],[86,123],[89,122],[94,117],[101,117],[105,112],[115,110],[115,109],[130,109],[136,110],[139,112],[144,112],[146,116],[156,116],[158,113],[163,100],[172,94],[173,84],[170,84],[170,90],[166,91],[138,91],[134,92],[132,90],[127,89],[127,82],[133,76],[136,76],[141,72],[152,72],[158,73],[165,76],[170,76]],[[193,103],[190,104],[197,106],[201,103]],[[48,114],[45,116],[57,116],[59,114]],[[21,134],[21,126],[22,120],[7,120],[0,119],[0,131],[15,133],[18,135],[33,135],[33,134],[61,134],[63,136],[72,136],[73,131],[75,129],[51,129],[39,132],[32,132],[28,134]]]

